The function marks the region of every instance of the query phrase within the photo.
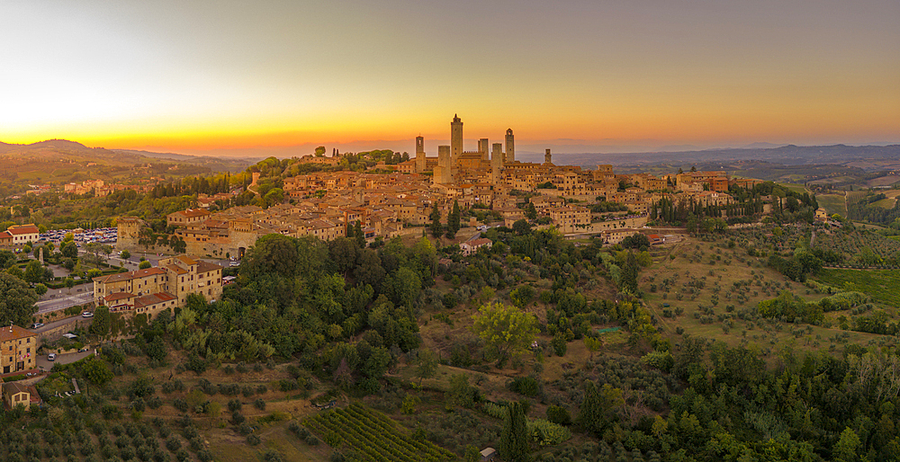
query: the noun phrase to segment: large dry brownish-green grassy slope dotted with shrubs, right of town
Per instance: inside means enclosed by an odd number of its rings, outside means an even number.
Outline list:
[[[788,280],[768,268],[765,258],[750,257],[739,246],[728,249],[723,244],[689,239],[671,248],[671,253],[676,255],[674,260],[663,258],[641,272],[641,289],[647,307],[673,343],[680,342],[681,335],[677,332],[683,329],[685,334],[731,346],[758,348],[767,360],[774,360],[775,352],[788,345],[798,351],[827,351],[832,347],[842,348],[836,343],[867,345],[881,342],[879,337],[883,336],[880,335],[842,331],[824,325],[791,324],[775,319],[742,320],[739,313],[754,311],[760,301],[775,298],[784,289],[810,301],[824,295]],[[669,292],[663,289],[664,280],[670,280]],[[697,285],[698,281],[703,282],[702,288],[691,287],[691,283]],[[749,286],[743,285],[747,282]],[[735,283],[743,287],[738,289]],[[655,292],[653,285],[657,286]],[[663,304],[670,307],[663,307]],[[676,308],[683,312],[677,315]],[[671,317],[666,317],[664,310],[671,310]],[[837,340],[839,337],[842,340]]]

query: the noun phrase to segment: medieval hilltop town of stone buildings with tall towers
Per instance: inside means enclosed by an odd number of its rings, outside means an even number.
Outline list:
[[[166,225],[184,242],[184,252],[224,258],[239,256],[267,234],[323,240],[347,236],[358,224],[365,241],[399,235],[421,235],[432,221],[435,206],[446,222],[455,206],[491,211],[490,217],[512,227],[520,219],[552,225],[563,235],[598,235],[617,244],[656,218],[658,206],[716,209],[721,217],[743,215],[729,193],[750,190],[761,181],[732,178],[725,172],[677,172],[660,177],[617,174],[611,165],[594,170],[557,165],[548,149],[543,164],[516,160],[512,129],[505,144],[480,139],[476,151],[463,150],[463,122],[451,122],[451,145],[428,156],[424,139],[416,138],[415,157],[398,164],[374,165],[382,173],[328,171],[284,178],[284,203],[263,209],[257,205],[209,211],[211,199],[196,209],[170,213]],[[338,164],[341,154],[308,155],[301,162]],[[253,191],[259,173],[253,173]],[[227,194],[220,194],[227,198]],[[771,198],[764,198],[770,209]],[[605,204],[604,204],[605,203]],[[617,206],[615,206],[617,204]],[[529,213],[530,211],[530,213]],[[760,210],[763,211],[763,210]],[[485,225],[470,220],[466,225]],[[162,241],[138,218],[118,220],[119,249],[157,250]]]

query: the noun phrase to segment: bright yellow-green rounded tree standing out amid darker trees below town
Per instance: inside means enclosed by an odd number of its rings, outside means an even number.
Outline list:
[[[473,315],[473,331],[500,359],[527,349],[537,334],[537,319],[502,303],[488,303]]]

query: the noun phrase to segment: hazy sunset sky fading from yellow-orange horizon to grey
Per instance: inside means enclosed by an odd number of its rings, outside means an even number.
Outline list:
[[[579,150],[900,142],[898,19],[897,0],[3,2],[0,141],[431,151],[458,113],[467,148],[510,127]]]

